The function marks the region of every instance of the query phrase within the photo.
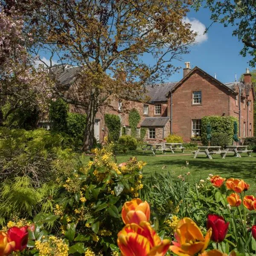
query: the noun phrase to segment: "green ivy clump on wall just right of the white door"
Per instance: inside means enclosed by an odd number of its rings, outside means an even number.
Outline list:
[[[117,141],[121,131],[120,117],[113,114],[105,114],[105,124],[108,127],[108,140]]]

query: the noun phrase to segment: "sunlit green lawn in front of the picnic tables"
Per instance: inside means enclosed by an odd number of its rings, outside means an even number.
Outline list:
[[[116,157],[117,163],[125,162],[133,156],[147,163],[143,168],[145,178],[154,175],[155,172],[164,173],[171,171],[174,177],[190,172],[192,176],[190,180],[199,181],[200,179],[206,180],[211,173],[225,178],[243,179],[250,184],[251,193],[256,194],[256,153],[252,153],[252,157],[242,154],[241,158],[228,154],[225,159],[222,159],[220,155],[213,155],[213,159],[209,160],[204,155],[194,159],[191,151],[185,151],[185,153],[175,152],[175,154],[166,152],[166,155],[156,153],[154,156],[150,151],[146,151],[143,154],[142,150],[136,150],[125,154],[118,154]],[[188,168],[186,168],[186,161],[189,161]]]

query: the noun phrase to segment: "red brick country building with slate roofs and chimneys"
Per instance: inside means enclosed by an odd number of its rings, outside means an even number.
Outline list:
[[[66,94],[78,97],[76,79],[78,68],[65,68],[59,75],[59,81],[67,88]],[[100,142],[108,134],[105,126],[105,113],[119,115],[126,134],[131,130],[128,115],[135,108],[140,113],[137,136],[140,128],[147,128],[145,140],[163,140],[169,133],[175,133],[189,141],[193,136],[201,135],[203,116],[235,116],[239,118],[240,136],[253,136],[253,100],[254,90],[249,70],[244,74],[244,82],[223,84],[199,67],[190,69],[189,62],[183,70],[183,79],[178,82],[155,84],[147,87],[147,103],[110,96],[111,106],[100,108],[96,114],[95,137]],[[239,93],[240,90],[240,93]],[[239,99],[240,95],[240,99]],[[85,113],[83,108],[70,105],[70,111]]]

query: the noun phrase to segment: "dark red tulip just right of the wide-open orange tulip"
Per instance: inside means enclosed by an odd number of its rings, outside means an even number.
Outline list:
[[[215,214],[209,214],[207,219],[207,229],[212,228],[212,241],[221,242],[227,235],[229,222],[225,222],[224,218]]]

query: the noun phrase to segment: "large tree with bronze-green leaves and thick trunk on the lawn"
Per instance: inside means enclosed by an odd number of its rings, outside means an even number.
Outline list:
[[[33,1],[9,2],[24,11]],[[32,52],[47,50],[59,61],[83,69],[79,99],[69,99],[55,88],[67,102],[86,108],[83,150],[93,146],[95,115],[108,96],[138,97],[143,84],[165,79],[177,70],[171,61],[188,52],[196,35],[183,21],[189,0],[38,2],[25,17],[35,40]]]

